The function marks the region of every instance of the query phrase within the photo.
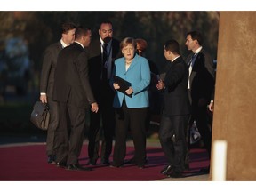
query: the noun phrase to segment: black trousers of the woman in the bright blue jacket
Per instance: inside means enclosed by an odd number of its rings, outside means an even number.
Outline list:
[[[122,108],[116,108],[116,143],[113,164],[124,164],[126,137],[130,128],[135,148],[135,164],[144,165],[146,159],[146,119],[148,108],[127,108],[125,100]]]

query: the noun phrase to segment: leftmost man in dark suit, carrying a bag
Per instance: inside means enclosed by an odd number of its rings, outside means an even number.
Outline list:
[[[60,41],[51,44],[44,52],[44,59],[42,65],[41,79],[40,79],[40,100],[43,103],[48,103],[50,108],[50,124],[47,130],[46,138],[46,154],[48,156],[48,163],[55,162],[55,146],[54,135],[58,126],[59,115],[57,102],[52,100],[52,90],[54,84],[54,72],[57,65],[57,57],[62,48],[72,44],[75,39],[76,26],[72,23],[64,23],[61,26],[62,37]]]

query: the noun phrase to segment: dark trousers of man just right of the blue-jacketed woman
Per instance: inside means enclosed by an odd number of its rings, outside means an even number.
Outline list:
[[[185,156],[187,150],[186,132],[189,115],[162,116],[159,128],[159,139],[169,165],[175,171],[185,169]]]

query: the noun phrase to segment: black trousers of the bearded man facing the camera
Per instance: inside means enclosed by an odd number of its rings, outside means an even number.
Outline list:
[[[115,109],[112,107],[115,92],[110,88],[108,82],[102,82],[97,93],[99,104],[98,113],[90,112],[88,155],[91,160],[99,158],[100,149],[100,123],[102,125],[103,140],[101,143],[101,162],[108,161],[112,152],[112,143],[115,132]]]

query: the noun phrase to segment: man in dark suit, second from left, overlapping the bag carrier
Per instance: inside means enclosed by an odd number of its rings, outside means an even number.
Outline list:
[[[63,49],[57,60],[53,100],[59,105],[60,124],[56,130],[56,162],[68,170],[90,170],[78,164],[84,140],[86,108],[98,112],[89,83],[88,55],[91,30],[78,27],[75,42]]]

